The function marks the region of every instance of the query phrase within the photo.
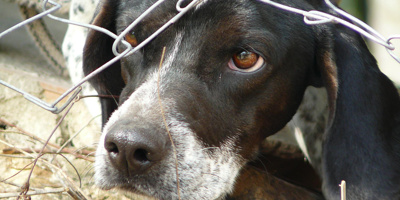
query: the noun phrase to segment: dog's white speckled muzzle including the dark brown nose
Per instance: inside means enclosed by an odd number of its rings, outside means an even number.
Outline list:
[[[96,153],[97,185],[161,199],[179,199],[178,193],[181,199],[225,196],[244,164],[234,148],[237,138],[206,147],[192,120],[177,108],[190,95],[179,98],[175,92],[160,98],[158,92],[171,93],[168,88],[176,87],[158,87],[154,75],[112,114]]]

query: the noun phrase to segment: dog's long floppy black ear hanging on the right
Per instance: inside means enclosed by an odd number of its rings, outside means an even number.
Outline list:
[[[341,25],[331,28],[322,34],[318,50],[330,108],[322,157],[324,195],[340,199],[338,185],[346,180],[349,199],[396,199],[391,195],[398,194],[400,182],[397,90],[358,34]]]

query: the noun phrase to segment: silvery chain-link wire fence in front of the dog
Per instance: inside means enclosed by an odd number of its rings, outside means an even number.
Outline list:
[[[135,21],[133,21],[121,34],[116,35],[112,32],[110,32],[107,29],[104,29],[102,27],[90,25],[90,24],[84,24],[84,23],[79,23],[79,22],[74,22],[70,21],[68,19],[63,19],[60,17],[56,17],[53,15],[54,12],[59,10],[61,8],[61,5],[57,2],[51,1],[51,0],[43,0],[42,1],[42,9],[43,11],[25,21],[22,21],[21,23],[16,24],[15,26],[7,29],[6,31],[3,31],[0,33],[0,40],[8,34],[12,34],[13,31],[16,29],[19,29],[35,20],[41,19],[43,17],[49,17],[53,20],[59,21],[61,23],[66,23],[66,24],[71,24],[71,25],[76,25],[76,26],[81,26],[89,29],[93,29],[102,33],[107,34],[109,37],[112,37],[115,39],[115,42],[113,44],[113,53],[115,57],[105,63],[102,66],[99,66],[97,70],[92,72],[91,74],[87,75],[84,77],[81,81],[79,81],[77,84],[69,88],[65,93],[60,95],[54,102],[52,103],[47,103],[39,98],[37,98],[34,95],[29,94],[28,92],[15,87],[9,83],[7,83],[4,80],[0,80],[0,84],[22,94],[28,101],[40,106],[41,108],[48,110],[54,114],[59,114],[63,112],[70,104],[74,102],[74,100],[77,98],[79,93],[81,92],[81,86],[82,84],[86,83],[89,79],[93,78],[97,74],[101,73],[104,71],[106,68],[111,66],[113,63],[117,62],[123,57],[129,56],[132,53],[138,51],[139,49],[143,48],[146,44],[148,44],[151,40],[153,40],[155,37],[157,37],[159,34],[161,34],[165,29],[167,29],[169,26],[174,24],[177,20],[179,20],[182,16],[185,15],[188,11],[196,7],[199,3],[201,3],[204,0],[193,0],[191,1],[187,6],[182,7],[182,2],[183,0],[179,0],[176,4],[176,10],[178,11],[178,14],[174,17],[172,17],[167,23],[165,23],[163,26],[161,26],[156,32],[154,32],[152,35],[150,35],[146,40],[138,44],[136,47],[132,47],[128,42],[124,40],[124,36],[130,31],[133,27],[135,27],[146,15],[151,13],[155,8],[157,8],[159,5],[165,2],[165,0],[158,0],[155,2],[148,10],[146,10],[141,16],[139,16]],[[331,7],[331,9],[339,16],[337,17],[329,13],[324,13],[321,11],[316,11],[316,10],[311,10],[311,11],[305,11],[301,10],[298,8],[293,8],[287,5],[283,5],[280,3],[277,3],[275,1],[271,0],[258,0],[260,2],[269,4],[273,7],[276,7],[277,9],[281,9],[283,12],[292,12],[296,13],[299,15],[304,16],[304,23],[309,24],[309,25],[318,25],[318,24],[324,24],[324,23],[338,23],[342,24],[343,26],[346,26],[356,32],[359,32],[361,35],[365,36],[366,38],[370,39],[371,41],[383,46],[384,48],[387,49],[388,53],[397,61],[400,63],[400,58],[395,55],[394,50],[395,46],[392,44],[393,40],[400,39],[400,35],[393,35],[388,38],[385,38],[382,36],[379,32],[375,31],[373,28],[362,22],[361,20],[358,20],[357,18],[349,15],[348,13],[342,11],[341,9],[337,8],[334,4],[332,4],[329,0],[325,0],[326,4]],[[347,20],[345,20],[345,19]],[[119,45],[124,45],[126,48],[125,51],[123,52],[118,52],[117,48]],[[62,100],[67,99],[65,103],[63,103],[61,106],[57,106],[58,104],[61,103]]]

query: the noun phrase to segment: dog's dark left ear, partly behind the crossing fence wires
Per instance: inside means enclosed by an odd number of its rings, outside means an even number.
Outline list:
[[[94,18],[93,24],[116,32],[117,0],[107,0],[100,5],[100,10]],[[96,70],[104,63],[114,58],[112,44],[114,39],[110,36],[91,30],[84,47],[83,70],[85,75]],[[121,66],[116,62],[89,81],[99,95],[119,96],[124,82],[121,77]],[[118,101],[115,98],[100,97],[103,125],[111,113],[117,109]]]

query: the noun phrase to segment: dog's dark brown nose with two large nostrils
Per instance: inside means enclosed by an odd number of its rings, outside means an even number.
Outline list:
[[[142,174],[159,163],[166,154],[166,137],[160,132],[147,133],[118,123],[105,138],[104,147],[112,165],[121,173]]]

